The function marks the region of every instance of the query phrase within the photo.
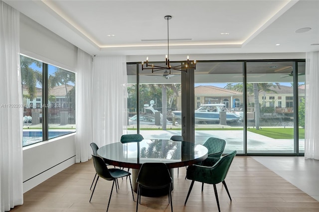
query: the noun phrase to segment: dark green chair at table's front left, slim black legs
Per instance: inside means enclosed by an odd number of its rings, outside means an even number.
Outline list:
[[[93,157],[93,162],[94,162],[94,168],[95,168],[96,173],[98,174],[98,178],[97,178],[97,180],[95,182],[95,185],[94,185],[94,188],[93,188],[93,192],[92,192],[92,195],[91,195],[91,198],[90,198],[90,202],[91,202],[91,199],[93,197],[93,193],[95,191],[96,184],[97,184],[97,182],[98,182],[100,177],[105,179],[105,180],[107,180],[107,181],[113,181],[111,194],[110,194],[110,198],[109,198],[109,203],[108,203],[108,208],[106,210],[106,211],[108,211],[109,210],[109,206],[110,206],[110,202],[111,202],[111,197],[112,197],[114,184],[115,185],[117,184],[117,179],[118,178],[126,177],[126,176],[128,176],[130,178],[130,185],[131,185],[133,201],[135,201],[134,200],[134,194],[133,194],[133,188],[132,188],[131,173],[127,172],[127,171],[124,171],[122,169],[118,169],[118,168],[109,169],[107,167],[107,165],[105,164],[103,158],[101,158],[100,156],[97,156],[97,155],[92,155],[92,157]]]

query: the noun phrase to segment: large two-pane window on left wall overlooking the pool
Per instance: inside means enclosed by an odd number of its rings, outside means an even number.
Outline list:
[[[75,132],[75,74],[23,55],[20,64],[22,146]]]

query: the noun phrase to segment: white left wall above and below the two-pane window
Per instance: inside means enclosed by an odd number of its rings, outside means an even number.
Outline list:
[[[20,13],[20,53],[73,71],[77,47]],[[23,192],[75,163],[75,133],[23,147]]]

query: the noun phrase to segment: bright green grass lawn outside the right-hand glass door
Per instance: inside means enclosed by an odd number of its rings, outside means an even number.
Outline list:
[[[293,139],[294,138],[294,128],[264,128],[257,130],[254,128],[247,129],[247,131],[254,132],[260,135],[265,135],[267,137],[275,139]],[[305,129],[299,128],[299,138],[305,138]]]

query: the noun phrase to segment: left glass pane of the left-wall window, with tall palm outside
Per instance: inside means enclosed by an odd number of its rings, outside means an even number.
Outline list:
[[[42,141],[42,62],[20,55],[23,93],[22,146]]]

